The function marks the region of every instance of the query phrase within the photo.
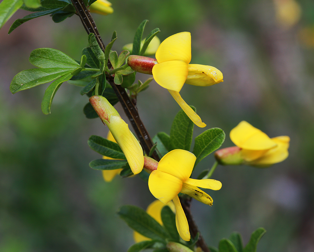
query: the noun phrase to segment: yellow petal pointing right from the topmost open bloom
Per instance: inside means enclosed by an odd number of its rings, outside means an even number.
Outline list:
[[[188,74],[185,83],[194,86],[211,86],[223,81],[222,72],[216,67],[198,64],[188,64]]]

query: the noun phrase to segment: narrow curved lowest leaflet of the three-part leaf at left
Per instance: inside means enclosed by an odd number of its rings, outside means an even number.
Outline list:
[[[57,90],[60,88],[61,84],[65,81],[68,81],[71,79],[72,75],[70,73],[62,76],[61,78],[55,80],[53,83],[49,85],[49,87],[46,89],[44,97],[41,102],[41,110],[45,115],[48,115],[50,113],[51,103],[53,100],[53,97],[57,93]]]

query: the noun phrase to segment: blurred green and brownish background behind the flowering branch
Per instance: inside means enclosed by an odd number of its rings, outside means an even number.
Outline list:
[[[158,27],[160,40],[181,31],[192,34],[191,63],[217,67],[224,82],[211,87],[184,85],[181,96],[197,107],[207,124],[226,133],[245,120],[270,137],[288,135],[290,156],[267,169],[218,166],[209,191],[212,207],[192,202],[192,213],[208,245],[240,232],[244,243],[258,227],[267,233],[257,251],[314,251],[314,2],[312,0],[112,0],[114,13],[94,14],[105,44],[116,30],[113,49]],[[139,177],[105,183],[89,168],[100,155],[90,135],[106,137],[99,119],[82,113],[88,102],[80,88],[64,83],[50,115],[41,112],[47,84],[12,95],[15,74],[32,68],[30,52],[51,47],[79,60],[87,34],[77,16],[60,24],[49,16],[33,19],[10,35],[19,10],[0,30],[0,251],[126,251],[132,231],[119,219],[119,206],[144,209],[154,200]],[[137,75],[144,81],[149,76]],[[138,110],[151,136],[170,133],[179,106],[156,83],[138,96]],[[123,114],[119,105],[117,110]],[[127,120],[126,118],[124,118]],[[195,127],[197,136],[204,129]],[[196,178],[214,162],[203,159]]]

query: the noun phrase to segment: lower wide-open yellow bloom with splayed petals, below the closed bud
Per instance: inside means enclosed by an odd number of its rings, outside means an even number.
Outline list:
[[[173,201],[176,208],[176,227],[181,238],[190,240],[187,217],[183,212],[178,193],[185,193],[207,205],[213,204],[213,199],[201,188],[219,190],[221,183],[217,180],[190,179],[196,157],[186,150],[176,149],[167,153],[158,163],[157,170],[149,175],[148,186],[155,198],[164,204]]]

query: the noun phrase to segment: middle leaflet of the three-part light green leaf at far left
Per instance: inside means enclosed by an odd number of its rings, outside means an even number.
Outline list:
[[[15,94],[21,90],[51,82],[70,72],[72,72],[72,70],[59,67],[24,70],[14,76],[10,84],[10,91],[12,94]]]

